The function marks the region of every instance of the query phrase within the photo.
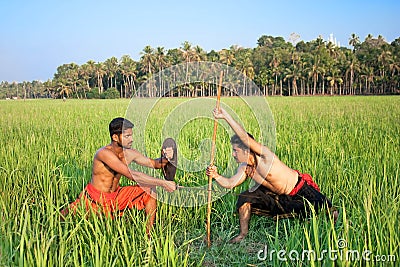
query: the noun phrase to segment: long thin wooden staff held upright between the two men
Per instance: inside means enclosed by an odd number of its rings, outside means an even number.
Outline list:
[[[215,106],[216,109],[219,110],[219,102],[221,99],[221,87],[222,87],[222,76],[223,71],[219,76],[219,84],[218,84],[218,91],[217,91],[217,104]],[[215,159],[215,140],[217,138],[217,128],[218,128],[218,120],[214,119],[214,132],[213,132],[213,139],[212,139],[212,146],[211,146],[211,160],[210,166],[214,165]],[[212,177],[208,176],[208,197],[207,197],[207,246],[211,246],[211,191],[212,191]]]

